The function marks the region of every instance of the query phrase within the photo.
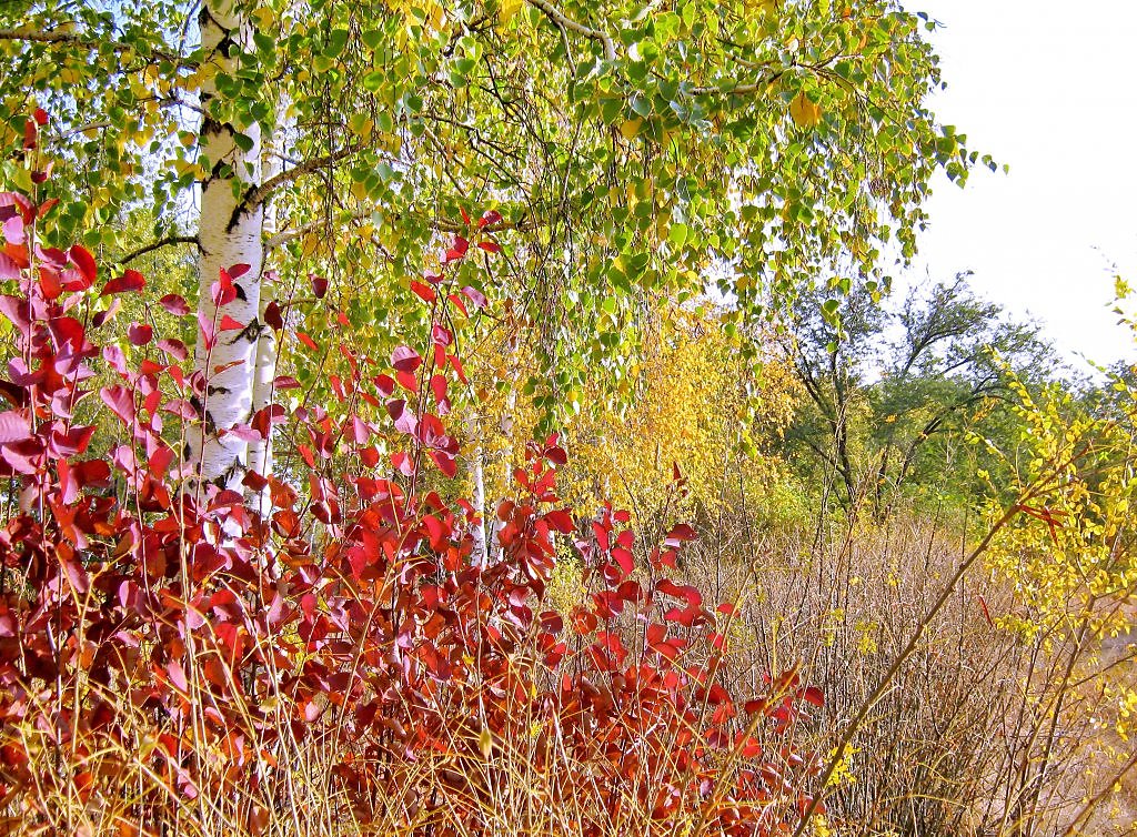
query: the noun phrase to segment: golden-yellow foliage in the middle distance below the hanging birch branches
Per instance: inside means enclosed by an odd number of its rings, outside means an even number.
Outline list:
[[[713,312],[661,313],[644,340],[639,362],[623,371],[629,398],[622,409],[598,407],[599,381],[590,390],[565,393],[582,406],[563,433],[568,453],[559,480],[564,499],[581,513],[611,499],[645,522],[665,506],[678,466],[688,496],[686,508],[673,506],[672,513],[714,514],[739,489],[761,505],[771,487],[785,483],[781,466],[773,457],[741,451],[753,453],[753,428],[780,429],[788,422],[796,400],[790,372],[767,364],[758,380],[741,357],[740,339],[729,337]],[[487,495],[501,497],[540,418],[529,399],[516,395],[530,363],[522,347],[506,357],[474,358],[472,365],[474,380],[508,382],[504,392],[481,392],[479,405]],[[479,365],[488,368],[479,371]],[[757,399],[749,395],[755,391]]]

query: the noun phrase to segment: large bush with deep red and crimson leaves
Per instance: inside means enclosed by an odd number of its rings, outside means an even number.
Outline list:
[[[38,246],[50,208],[0,196],[16,347],[0,381],[0,813],[28,832],[69,834],[80,811],[108,832],[208,814],[257,834],[315,781],[343,822],[459,834],[524,781],[580,834],[796,821],[811,763],[792,731],[820,695],[794,672],[749,701],[728,688],[733,608],[664,574],[689,527],[644,552],[625,513],[580,520],[557,498],[556,437],[529,446],[485,560],[473,506],[421,489],[424,471],[457,470],[439,417],[464,380],[447,323],[480,293],[445,271],[412,283],[425,354],[400,348],[383,370],[343,347],[334,414],[273,405],[227,431],[276,428],[302,472],[193,488],[201,373],[149,331],[130,335],[136,364],[98,345],[100,295],[146,295],[144,280]],[[447,265],[468,245],[456,237]],[[117,441],[92,449],[108,428]],[[377,436],[401,449],[381,456]],[[586,567],[567,614],[543,604],[558,549]]]

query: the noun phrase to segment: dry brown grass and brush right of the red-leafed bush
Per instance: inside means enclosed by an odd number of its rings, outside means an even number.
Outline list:
[[[806,679],[825,695],[814,739],[825,753],[888,677],[976,540],[964,521],[916,517],[881,528],[835,524],[812,537],[760,540],[754,549],[730,531],[708,538],[688,572],[709,578],[727,597],[750,590],[736,677],[754,681],[803,661]],[[735,560],[724,562],[727,555]],[[1126,596],[1093,606],[1118,600]],[[1131,741],[1113,729],[1110,683],[1137,685],[1137,648],[1084,630],[1087,614],[1077,602],[1060,629],[1031,639],[998,627],[1019,607],[981,565],[963,577],[833,771],[830,829],[1134,834],[1137,771],[1127,761]]]

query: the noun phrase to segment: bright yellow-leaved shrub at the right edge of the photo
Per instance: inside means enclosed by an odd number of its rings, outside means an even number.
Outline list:
[[[1057,387],[1040,397],[1018,387],[1024,425],[1014,451],[1019,479],[1023,488],[1041,490],[1020,503],[1014,524],[993,542],[988,564],[1015,594],[1014,607],[997,614],[996,624],[1047,654],[1071,646],[1076,660],[1084,653],[1073,676],[1113,702],[1115,731],[1126,740],[1135,729],[1137,697],[1126,682],[1131,670],[1110,657],[1137,629],[1130,511],[1137,400],[1124,387],[1120,391],[1106,418]]]

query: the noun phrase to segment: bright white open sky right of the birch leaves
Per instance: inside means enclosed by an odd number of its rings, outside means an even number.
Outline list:
[[[914,277],[972,270],[978,292],[1043,321],[1065,354],[1137,357],[1107,309],[1117,273],[1137,287],[1137,2],[905,6],[944,24],[937,115],[1011,166],[963,190],[937,181]]]

